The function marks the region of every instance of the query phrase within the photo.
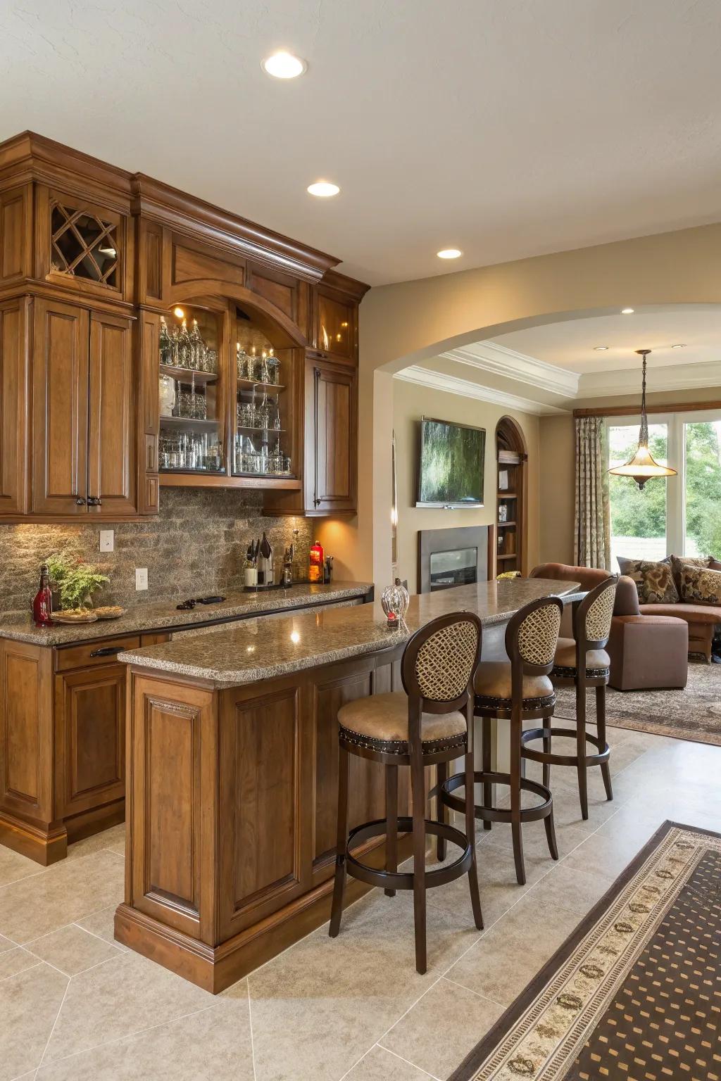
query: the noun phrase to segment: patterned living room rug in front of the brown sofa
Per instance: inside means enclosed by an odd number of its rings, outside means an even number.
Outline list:
[[[573,688],[558,689],[556,712],[573,716]],[[683,691],[606,690],[606,723],[677,739],[721,746],[721,665],[689,665]],[[588,695],[588,717],[596,716],[596,697]],[[719,1075],[721,1077],[721,1073]]]

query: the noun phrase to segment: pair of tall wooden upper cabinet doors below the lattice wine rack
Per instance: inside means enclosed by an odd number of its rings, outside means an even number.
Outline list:
[[[32,510],[135,512],[131,322],[37,301],[32,346]]]

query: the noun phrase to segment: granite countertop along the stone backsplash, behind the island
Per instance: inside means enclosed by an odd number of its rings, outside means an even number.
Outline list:
[[[298,583],[288,589],[270,589],[257,593],[227,593],[219,604],[196,604],[195,609],[178,612],[176,602],[162,601],[137,604],[128,609],[119,619],[98,619],[96,623],[55,624],[36,627],[29,615],[2,618],[0,638],[32,645],[69,645],[74,642],[94,641],[98,638],[117,638],[118,635],[138,635],[149,630],[173,627],[202,626],[213,619],[242,618],[295,609],[304,605],[329,604],[333,601],[364,597],[371,588],[369,582],[333,582],[328,586]]]

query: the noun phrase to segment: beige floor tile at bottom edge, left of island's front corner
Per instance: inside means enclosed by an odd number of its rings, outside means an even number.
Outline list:
[[[215,999],[198,1013],[125,1040],[43,1064],[37,1081],[253,1081],[248,1000]]]

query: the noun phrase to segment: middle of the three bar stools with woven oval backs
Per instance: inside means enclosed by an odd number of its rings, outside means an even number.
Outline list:
[[[476,717],[482,718],[483,735],[482,771],[473,774],[476,784],[483,786],[483,803],[481,806],[476,805],[475,814],[482,819],[484,829],[491,829],[494,822],[510,823],[516,878],[520,885],[525,883],[521,836],[523,823],[544,819],[551,857],[558,859],[553,797],[547,785],[523,776],[521,736],[524,721],[547,719],[553,712],[556,692],[549,672],[553,667],[562,611],[563,604],[558,597],[543,597],[520,609],[506,628],[506,653],[509,659],[482,660],[475,681],[475,711]],[[494,719],[510,721],[510,773],[491,770],[491,721]],[[442,769],[439,765],[439,772]],[[494,784],[510,788],[510,810],[492,805],[491,786]],[[467,800],[468,783],[463,773],[448,779],[444,775],[439,776],[441,805],[454,811],[463,810],[462,800],[451,793],[464,786]],[[532,808],[521,808],[521,792],[533,792],[539,797],[540,802]],[[442,814],[444,817],[445,812]],[[442,852],[442,846],[439,846],[441,858]]]

